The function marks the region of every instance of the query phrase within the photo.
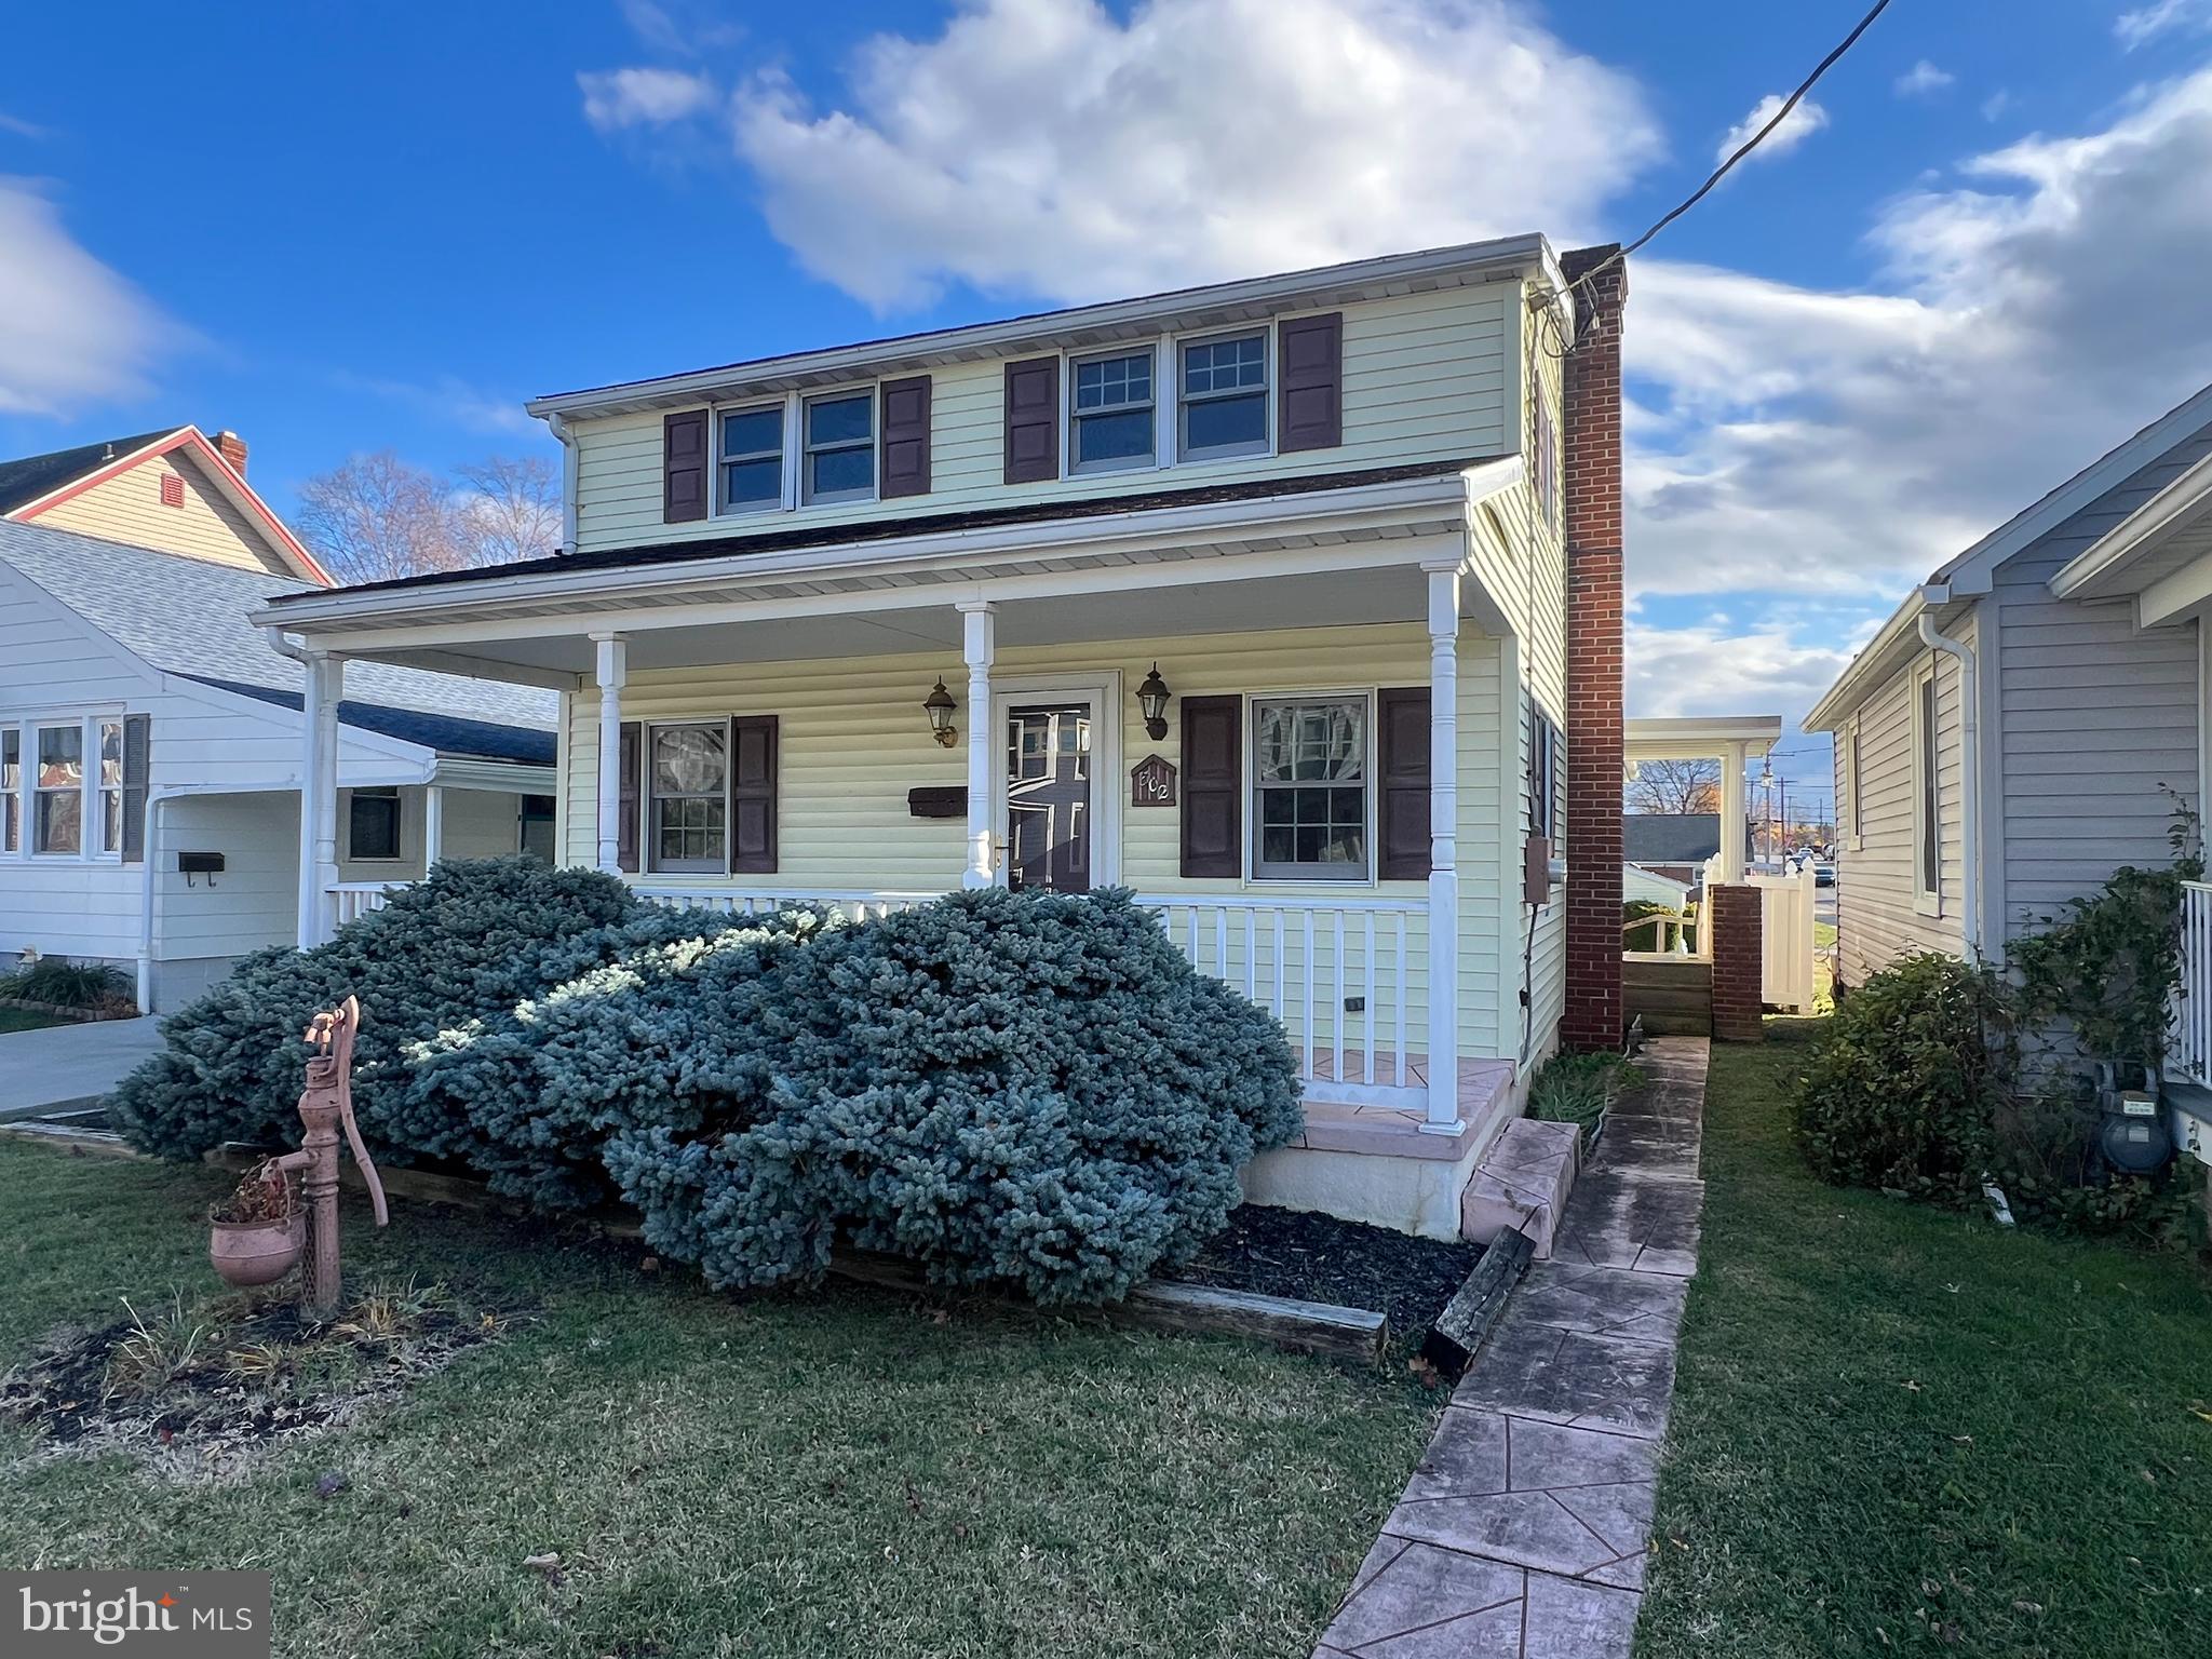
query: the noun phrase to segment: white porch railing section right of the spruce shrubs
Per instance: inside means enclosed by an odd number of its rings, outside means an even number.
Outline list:
[[[1141,894],[1199,973],[1290,1029],[1316,1099],[1427,1108],[1407,1033],[1427,1031],[1422,898]],[[1352,1006],[1358,1002],[1358,1006]]]

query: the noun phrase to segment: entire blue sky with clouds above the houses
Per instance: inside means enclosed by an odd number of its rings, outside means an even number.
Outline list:
[[[285,511],[352,451],[549,449],[535,392],[1619,237],[1858,11],[42,7],[0,64],[0,453],[230,425]],[[1796,719],[1911,580],[2212,378],[2208,24],[1898,0],[1818,119],[1650,248],[1637,712]],[[1825,745],[1790,750],[1825,794]]]

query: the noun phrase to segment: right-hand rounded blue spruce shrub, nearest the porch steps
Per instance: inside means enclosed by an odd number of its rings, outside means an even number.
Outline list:
[[[745,1009],[750,1031],[695,1033],[723,1108],[635,1115],[604,1148],[646,1239],[717,1285],[807,1283],[849,1243],[940,1283],[1108,1301],[1188,1261],[1237,1170],[1301,1121],[1283,1029],[1126,894],[830,927]]]

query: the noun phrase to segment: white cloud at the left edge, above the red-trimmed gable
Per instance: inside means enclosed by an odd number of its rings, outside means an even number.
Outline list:
[[[62,226],[38,181],[0,175],[0,414],[69,414],[144,396],[184,341]]]

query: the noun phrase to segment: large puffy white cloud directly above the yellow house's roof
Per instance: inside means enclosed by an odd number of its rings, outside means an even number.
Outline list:
[[[776,237],[885,310],[1584,237],[1657,153],[1635,84],[1506,0],[964,0],[836,108],[772,71],[730,108]]]

